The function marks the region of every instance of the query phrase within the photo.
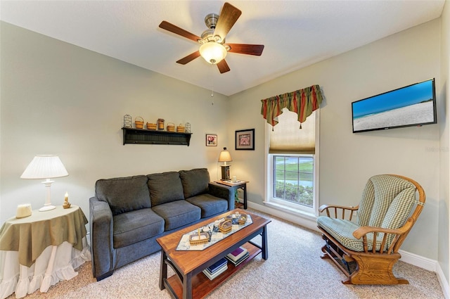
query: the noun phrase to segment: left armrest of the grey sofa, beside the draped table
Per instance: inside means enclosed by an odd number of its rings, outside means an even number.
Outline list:
[[[113,270],[113,212],[105,201],[89,198],[92,274],[105,278]],[[108,274],[111,272],[110,274]],[[99,280],[99,279],[98,279]]]

